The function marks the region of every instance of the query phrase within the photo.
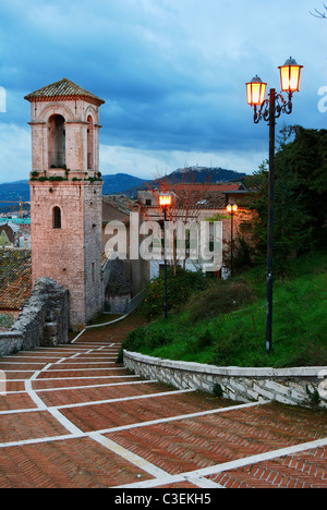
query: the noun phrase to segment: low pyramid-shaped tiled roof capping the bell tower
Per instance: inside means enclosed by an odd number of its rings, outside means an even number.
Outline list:
[[[102,105],[105,101],[94,94],[85,90],[85,88],[80,87],[75,83],[71,82],[68,78],[62,78],[59,82],[51,83],[46,87],[39,88],[27,96],[26,99],[29,102],[41,101],[48,99],[75,99],[76,97],[86,99],[89,102],[94,102],[98,106]]]

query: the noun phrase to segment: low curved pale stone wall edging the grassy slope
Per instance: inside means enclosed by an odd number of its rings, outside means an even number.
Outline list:
[[[177,362],[124,351],[124,366],[179,389],[221,392],[237,402],[277,401],[327,409],[327,367],[242,368]]]

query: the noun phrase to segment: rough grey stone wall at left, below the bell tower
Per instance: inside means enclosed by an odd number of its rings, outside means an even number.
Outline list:
[[[0,355],[68,343],[68,291],[50,278],[40,278],[11,330],[0,333]]]

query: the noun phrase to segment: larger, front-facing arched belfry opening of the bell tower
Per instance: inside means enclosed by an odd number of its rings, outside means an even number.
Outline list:
[[[65,166],[65,121],[60,114],[49,119],[49,168]]]

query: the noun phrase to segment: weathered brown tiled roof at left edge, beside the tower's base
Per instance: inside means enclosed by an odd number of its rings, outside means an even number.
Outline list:
[[[0,250],[0,308],[21,309],[32,292],[31,250]]]

